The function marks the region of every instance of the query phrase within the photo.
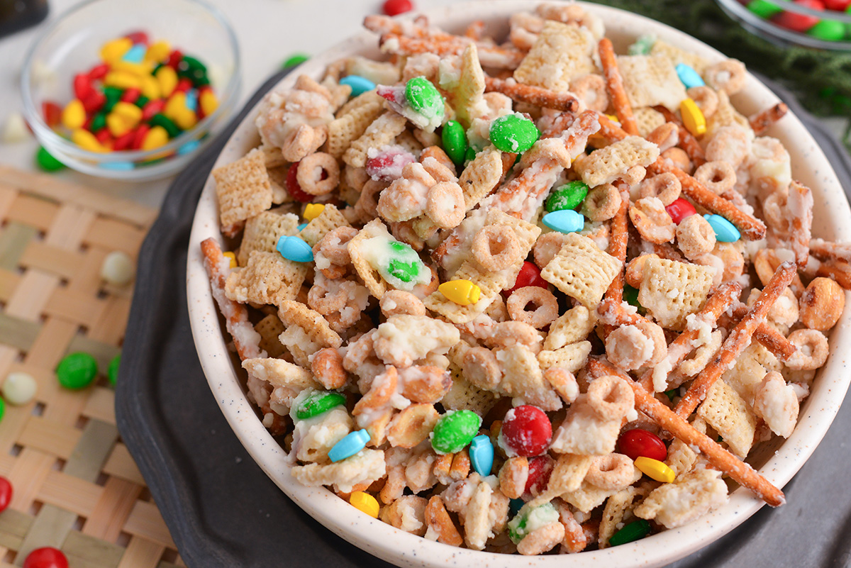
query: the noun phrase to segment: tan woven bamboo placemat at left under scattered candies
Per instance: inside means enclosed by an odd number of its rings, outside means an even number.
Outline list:
[[[132,285],[100,280],[108,253],[136,258],[156,211],[47,175],[0,167],[0,381],[36,378],[26,406],[0,421],[0,568],[60,548],[71,568],[184,565],[145,480],[119,439],[106,368],[120,351]],[[96,383],[63,389],[73,351],[98,361]],[[118,380],[121,380],[120,378]]]

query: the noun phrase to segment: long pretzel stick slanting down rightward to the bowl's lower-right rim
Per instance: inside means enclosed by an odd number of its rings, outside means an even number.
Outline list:
[[[751,468],[749,464],[741,461],[719,446],[709,436],[694,429],[694,426],[686,422],[683,417],[671,412],[670,408],[662,404],[659,400],[656,400],[653,395],[643,389],[640,384],[631,380],[620,369],[605,361],[589,359],[588,370],[592,375],[598,377],[615,375],[623,378],[632,387],[632,391],[635,394],[636,408],[644,412],[661,429],[671,432],[671,435],[674,435],[678,440],[682,440],[689,446],[696,446],[700,450],[700,453],[709,460],[709,463],[736,480],[740,486],[747,487],[765,503],[768,503],[772,507],[780,507],[780,505],[786,502],[783,491],[780,491],[780,489],[762,477],[757,470]]]

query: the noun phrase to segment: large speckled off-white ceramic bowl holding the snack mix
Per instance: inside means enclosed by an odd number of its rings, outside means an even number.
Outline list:
[[[490,0],[462,3],[451,8],[435,9],[428,13],[431,21],[450,31],[460,31],[471,20],[484,20],[494,29],[506,30],[507,17],[519,10],[534,6],[523,0]],[[722,55],[686,34],[642,16],[596,4],[585,6],[600,15],[617,52],[641,34],[653,33],[666,42],[700,54],[707,60],[720,60]],[[319,77],[325,65],[343,55],[378,55],[377,37],[363,32],[351,37],[325,54],[300,67],[298,73]],[[297,73],[281,82],[291,86]],[[744,91],[734,97],[734,104],[747,115],[777,102],[768,88],[749,76]],[[237,160],[258,143],[254,129],[254,113],[237,128],[216,162],[217,166]],[[851,240],[851,210],[836,174],[814,139],[795,116],[786,116],[769,132],[783,141],[791,154],[792,175],[810,186],[815,194],[816,236],[828,239]],[[570,555],[540,557],[510,556],[454,548],[425,538],[399,531],[380,520],[374,520],[351,507],[324,488],[300,485],[289,474],[281,446],[261,425],[254,407],[245,397],[242,371],[237,375],[235,361],[226,349],[226,339],[220,326],[220,316],[210,293],[204,272],[200,243],[208,237],[220,239],[214,184],[208,180],[198,203],[189,243],[187,291],[192,334],[204,372],[216,400],[231,428],[248,453],[266,474],[295,503],[340,537],[369,553],[402,566],[500,565],[510,568],[534,566],[539,568],[595,568],[599,566],[658,566],[693,553],[722,537],[762,507],[762,501],[743,488],[733,492],[729,502],[700,520],[678,529],[663,531],[652,537],[604,550]],[[828,359],[814,389],[802,406],[800,421],[788,440],[765,445],[752,457],[751,463],[776,486],[784,486],[814,451],[836,415],[842,397],[848,389],[851,374],[843,372],[848,352],[851,352],[851,310],[847,310],[831,333],[831,357]],[[776,452],[775,452],[776,450]]]

